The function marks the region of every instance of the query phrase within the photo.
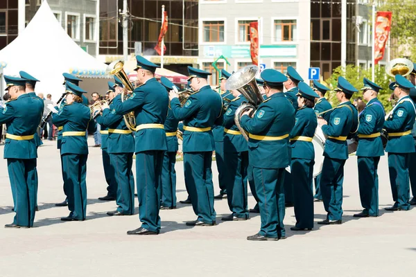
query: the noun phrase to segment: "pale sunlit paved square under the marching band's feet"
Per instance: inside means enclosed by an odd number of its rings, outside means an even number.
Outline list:
[[[89,138],[89,145],[93,145]],[[3,146],[0,147],[3,153]],[[2,154],[1,154],[2,155]],[[385,212],[392,205],[387,157],[379,165],[380,217],[356,219],[361,211],[356,157],[345,166],[343,224],[295,233],[293,208],[286,208],[286,240],[249,242],[259,231],[260,217],[246,222],[221,222],[229,214],[227,201],[217,200],[217,226],[188,227],[195,220],[191,206],[161,211],[162,231],[156,236],[131,236],[139,216],[109,217],[115,202],[97,198],[107,193],[101,150],[89,148],[88,206],[85,222],[61,222],[64,200],[59,151],[55,142],[39,149],[39,208],[33,229],[4,229],[15,215],[6,160],[0,160],[0,276],[400,276],[412,275],[416,255],[416,209]],[[218,193],[213,163],[214,186]],[[176,165],[177,199],[184,188],[182,162]],[[137,198],[135,199],[137,207]],[[249,193],[249,206],[254,199]],[[315,222],[324,219],[322,202],[315,203]]]

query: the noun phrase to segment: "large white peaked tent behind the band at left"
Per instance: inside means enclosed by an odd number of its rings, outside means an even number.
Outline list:
[[[25,30],[0,51],[0,68],[4,75],[26,71],[40,80],[35,91],[51,93],[53,100],[64,92],[62,73],[73,73],[83,82],[80,87],[92,93],[107,91],[106,65],[85,52],[67,35],[43,1]],[[101,93],[102,94],[102,93]]]

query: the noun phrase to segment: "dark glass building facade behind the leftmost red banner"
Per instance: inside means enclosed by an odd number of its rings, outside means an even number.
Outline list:
[[[155,51],[162,25],[162,5],[168,13],[164,37],[164,68],[187,73],[198,63],[198,0],[128,0],[128,54],[160,63]],[[99,57],[103,62],[123,58],[123,0],[100,0]]]

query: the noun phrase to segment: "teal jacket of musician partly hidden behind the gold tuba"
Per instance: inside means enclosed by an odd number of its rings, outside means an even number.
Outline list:
[[[121,99],[121,94],[117,95],[116,98]],[[116,114],[114,105],[110,105],[110,109],[103,110],[103,116],[101,120],[105,126],[108,126],[108,129],[119,129],[119,130],[128,130],[128,127],[125,125],[123,116]],[[115,153],[134,153],[135,152],[135,137],[133,133],[130,134],[117,134],[114,132],[108,132],[107,138],[107,152],[110,154]]]

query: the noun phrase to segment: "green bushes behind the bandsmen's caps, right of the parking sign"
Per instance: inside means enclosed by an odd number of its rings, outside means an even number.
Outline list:
[[[388,98],[390,97],[392,91],[390,91],[388,88],[388,84],[392,82],[393,78],[385,73],[383,66],[376,65],[374,70],[374,82],[383,88],[383,90],[379,92],[379,100],[383,103],[385,111],[390,111],[390,109],[392,109],[392,105],[388,101]],[[348,64],[345,66],[345,68],[338,66],[336,69],[334,69],[331,77],[327,79],[326,82],[329,87],[331,87],[331,89],[336,89],[338,84],[338,77],[343,76],[356,89],[358,89],[358,92],[354,93],[351,98],[351,100],[354,100],[357,97],[363,97],[363,92],[360,91],[360,89],[363,87],[363,78],[371,80],[371,74],[371,68],[363,69],[361,66]],[[326,97],[333,106],[339,104],[339,101],[336,98],[336,93],[329,92],[327,93]]]

